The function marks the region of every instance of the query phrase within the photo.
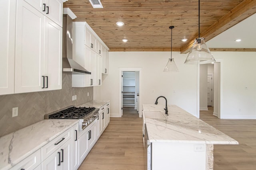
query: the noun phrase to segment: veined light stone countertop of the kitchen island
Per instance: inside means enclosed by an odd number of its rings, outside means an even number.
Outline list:
[[[143,104],[143,111],[156,111],[164,118],[145,118],[149,142],[238,144],[238,141],[176,105]],[[159,111],[159,112],[157,112]]]

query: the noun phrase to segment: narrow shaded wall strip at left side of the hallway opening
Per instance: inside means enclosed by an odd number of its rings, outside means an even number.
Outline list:
[[[207,95],[207,74],[208,64],[200,65],[200,110],[208,110],[208,95]]]

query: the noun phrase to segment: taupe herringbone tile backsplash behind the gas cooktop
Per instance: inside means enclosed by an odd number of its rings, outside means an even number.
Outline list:
[[[77,95],[74,101],[73,95]],[[72,88],[71,74],[62,74],[61,90],[0,95],[0,137],[43,120],[47,113],[91,100],[93,87]],[[18,107],[18,116],[12,117],[12,107]]]

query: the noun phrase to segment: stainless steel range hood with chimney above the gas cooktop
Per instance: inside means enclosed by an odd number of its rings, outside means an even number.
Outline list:
[[[68,74],[91,74],[91,72],[73,60],[72,19],[67,14],[63,14],[62,35],[62,72]]]

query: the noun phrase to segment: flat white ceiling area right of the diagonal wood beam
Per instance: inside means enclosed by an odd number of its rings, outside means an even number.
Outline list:
[[[236,42],[236,39],[242,39]],[[256,48],[256,14],[206,42],[208,48]]]

